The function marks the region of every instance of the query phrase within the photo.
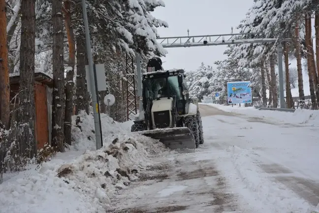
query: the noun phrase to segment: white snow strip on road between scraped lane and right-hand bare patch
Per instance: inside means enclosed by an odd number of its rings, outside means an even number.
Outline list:
[[[240,177],[240,181],[244,183],[245,191],[248,190],[249,194],[254,197],[251,197],[254,199],[254,206],[266,206],[267,211],[272,213],[307,212],[308,207],[311,206],[309,203],[300,199],[285,185],[272,180],[269,175],[254,165],[253,162],[256,160],[251,157],[255,154],[253,151],[238,146],[229,146],[226,150],[230,153],[236,176]],[[245,194],[244,191],[243,194]],[[261,212],[264,211],[260,210]]]

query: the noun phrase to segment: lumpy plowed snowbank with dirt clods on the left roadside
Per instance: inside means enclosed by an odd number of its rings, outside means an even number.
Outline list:
[[[131,134],[128,124],[102,114],[103,147],[95,151],[93,116],[80,118],[82,131],[72,128],[71,151],[0,184],[0,213],[105,212],[114,193],[152,163],[150,153],[164,150],[160,142]]]

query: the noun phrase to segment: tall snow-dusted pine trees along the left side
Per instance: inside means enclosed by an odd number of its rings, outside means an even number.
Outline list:
[[[119,107],[112,114],[123,121],[127,57],[139,53],[145,63],[166,54],[156,28],[168,25],[151,15],[165,5],[162,0],[86,0],[86,6],[94,63],[106,69],[108,89],[100,100],[116,95]],[[75,114],[90,112],[87,64],[81,1],[0,0],[0,171],[18,170],[21,159],[36,155],[34,72],[53,78],[52,146],[63,152],[71,144],[73,107]],[[14,109],[10,73],[20,76]],[[105,107],[101,102],[101,112]]]

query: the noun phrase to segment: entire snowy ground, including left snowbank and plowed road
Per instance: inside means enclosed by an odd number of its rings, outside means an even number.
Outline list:
[[[88,116],[83,132],[73,129],[72,151],[0,184],[0,213],[307,213],[317,206],[316,112],[200,110],[205,143],[194,152],[168,151],[104,116],[104,148],[81,155],[94,149]]]

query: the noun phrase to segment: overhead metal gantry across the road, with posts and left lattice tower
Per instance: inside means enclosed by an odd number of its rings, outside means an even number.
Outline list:
[[[189,31],[188,31],[189,32]],[[204,36],[175,36],[175,37],[159,37],[157,40],[163,48],[176,48],[176,47],[196,47],[196,46],[217,46],[217,45],[230,45],[230,44],[249,44],[249,43],[276,43],[277,38],[265,38],[263,32],[260,33],[238,33],[238,34],[217,34],[217,35],[204,35]],[[290,38],[282,39],[281,42],[289,42]],[[129,59],[130,60],[130,59]],[[133,60],[132,60],[133,63]],[[140,56],[136,56],[137,79],[141,79],[141,68],[140,68]],[[128,58],[127,58],[128,64]],[[133,65],[132,65],[133,66]],[[280,107],[286,108],[285,95],[284,95],[284,75],[283,75],[283,46],[281,43],[278,44],[278,70],[279,70],[279,90],[280,90]],[[128,72],[127,72],[128,73]],[[133,72],[134,73],[134,72]],[[135,83],[135,75],[132,76],[131,82]],[[128,83],[128,86],[132,83]],[[135,85],[134,85],[134,94]],[[142,96],[141,82],[138,81],[138,97]],[[133,97],[133,96],[131,96]],[[136,95],[135,98],[135,114],[136,114]],[[139,101],[141,103],[141,100]],[[130,103],[130,104],[129,104]],[[128,106],[133,106],[133,101],[128,99]],[[141,110],[141,104],[139,106]],[[128,115],[133,113],[128,107]]]

